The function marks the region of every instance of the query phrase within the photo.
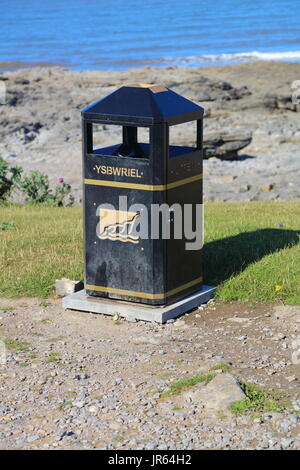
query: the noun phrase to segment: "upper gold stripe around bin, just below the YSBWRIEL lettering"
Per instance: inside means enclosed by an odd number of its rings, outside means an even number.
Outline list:
[[[140,184],[140,183],[127,183],[125,181],[109,181],[109,180],[94,180],[85,178],[85,184],[93,184],[95,186],[110,186],[115,188],[128,188],[128,189],[140,189],[143,191],[164,191],[165,189],[173,189],[184,184],[193,183],[202,179],[202,175],[194,175],[189,178],[174,181],[168,184]]]

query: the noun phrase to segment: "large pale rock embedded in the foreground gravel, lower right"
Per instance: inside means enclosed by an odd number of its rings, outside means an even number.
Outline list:
[[[231,374],[217,375],[206,386],[189,392],[190,401],[199,403],[208,412],[226,412],[232,403],[245,397],[236,378]]]

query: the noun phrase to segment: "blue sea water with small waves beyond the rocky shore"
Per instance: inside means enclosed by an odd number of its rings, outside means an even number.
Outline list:
[[[300,61],[300,0],[0,0],[0,62],[120,70]]]

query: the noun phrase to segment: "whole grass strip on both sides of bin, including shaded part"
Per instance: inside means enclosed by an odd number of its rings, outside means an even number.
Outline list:
[[[54,293],[55,279],[82,279],[80,207],[7,205],[0,224],[0,295]],[[300,203],[205,205],[204,282],[222,300],[300,304]],[[282,226],[283,225],[283,226]]]

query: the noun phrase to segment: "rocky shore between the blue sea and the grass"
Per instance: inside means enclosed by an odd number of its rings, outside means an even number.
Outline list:
[[[59,177],[81,199],[80,110],[125,83],[161,83],[205,108],[206,201],[299,200],[300,105],[292,83],[300,64],[75,72],[62,67],[0,73],[0,155],[25,171]],[[96,144],[119,140],[99,126]],[[172,128],[172,144],[192,144],[191,124]]]

